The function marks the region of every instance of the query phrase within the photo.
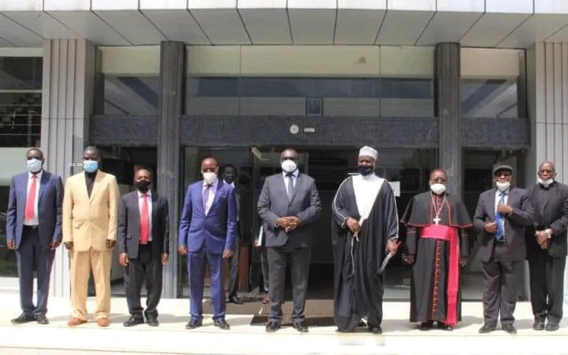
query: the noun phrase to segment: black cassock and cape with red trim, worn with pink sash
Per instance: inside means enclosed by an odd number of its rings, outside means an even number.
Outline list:
[[[444,195],[432,195],[430,191],[415,195],[401,219],[407,226],[405,252],[415,255],[410,283],[410,322],[444,322],[447,317],[449,243],[421,238],[422,227],[435,224],[437,210],[440,211],[439,224],[457,229],[461,256],[469,254],[466,229],[472,224],[466,207],[460,200]],[[461,320],[461,288],[455,312],[457,320]]]

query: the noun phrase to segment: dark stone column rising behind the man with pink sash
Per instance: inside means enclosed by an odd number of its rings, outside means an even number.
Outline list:
[[[439,117],[439,167],[446,170],[448,192],[461,197],[460,50],[459,43],[436,45],[435,94]]]

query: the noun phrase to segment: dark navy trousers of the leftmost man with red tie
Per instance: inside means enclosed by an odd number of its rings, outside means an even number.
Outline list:
[[[29,315],[48,312],[49,281],[55,251],[40,245],[38,229],[23,226],[20,247],[16,249],[16,263],[20,282],[20,305]],[[33,305],[33,272],[38,274],[38,305]]]

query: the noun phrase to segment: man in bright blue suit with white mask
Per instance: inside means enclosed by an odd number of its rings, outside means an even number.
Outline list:
[[[203,180],[187,187],[183,203],[178,251],[187,254],[190,278],[190,322],[186,329],[201,327],[203,286],[206,263],[211,275],[213,324],[229,329],[225,321],[223,287],[224,259],[233,255],[236,234],[236,194],[234,187],[219,180],[217,160],[201,163]]]

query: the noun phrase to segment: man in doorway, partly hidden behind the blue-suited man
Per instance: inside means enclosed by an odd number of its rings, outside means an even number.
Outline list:
[[[229,258],[229,302],[236,305],[242,305],[243,301],[239,298],[239,259],[241,256],[241,238],[243,237],[240,221],[241,212],[241,196],[236,188],[236,168],[234,165],[227,164],[221,170],[223,180],[226,184],[231,185],[235,190],[236,196],[236,236],[233,256]]]

